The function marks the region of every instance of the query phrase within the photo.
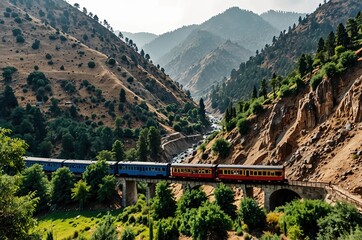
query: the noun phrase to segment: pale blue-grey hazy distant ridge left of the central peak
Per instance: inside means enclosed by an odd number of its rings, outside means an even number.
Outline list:
[[[151,56],[154,62],[158,63],[160,57],[184,41],[196,27],[197,25],[183,26],[174,31],[161,34],[153,41],[144,45],[143,49]]]

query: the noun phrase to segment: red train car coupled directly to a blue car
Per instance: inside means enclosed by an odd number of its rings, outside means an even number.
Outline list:
[[[172,163],[170,172],[172,177],[215,179],[216,166],[215,164]]]

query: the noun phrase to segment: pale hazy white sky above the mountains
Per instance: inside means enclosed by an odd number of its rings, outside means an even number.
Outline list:
[[[165,33],[184,25],[202,23],[238,6],[255,13],[269,9],[313,12],[323,0],[67,0],[106,19],[114,30]]]

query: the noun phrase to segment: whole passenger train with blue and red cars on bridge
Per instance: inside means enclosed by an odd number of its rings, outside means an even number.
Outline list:
[[[75,174],[82,174],[95,163],[92,160],[24,157],[25,167],[40,164],[45,172],[68,167]],[[108,161],[109,174],[121,177],[179,178],[235,182],[286,182],[284,166],[190,164],[159,162]]]

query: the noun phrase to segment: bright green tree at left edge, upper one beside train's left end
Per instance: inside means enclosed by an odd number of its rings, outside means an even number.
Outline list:
[[[10,130],[0,128],[0,170],[7,174],[16,174],[23,170],[23,155],[28,144],[19,138],[11,138],[7,135]]]

